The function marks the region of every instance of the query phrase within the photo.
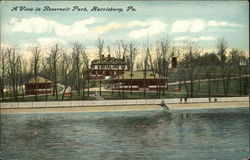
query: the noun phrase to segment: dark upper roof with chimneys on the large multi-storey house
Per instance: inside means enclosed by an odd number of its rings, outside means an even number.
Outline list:
[[[98,64],[109,64],[109,65],[116,65],[116,64],[127,64],[124,59],[115,58],[115,57],[101,57],[101,59],[95,59],[91,63],[92,65],[98,65]]]

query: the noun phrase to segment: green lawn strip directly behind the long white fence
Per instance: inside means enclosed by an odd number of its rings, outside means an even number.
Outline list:
[[[247,78],[247,83],[249,82],[249,77]],[[161,92],[160,96],[156,93],[156,91],[150,91],[146,92],[146,96],[144,97],[143,91],[141,92],[133,92],[132,94],[130,91],[123,92],[120,91],[102,91],[102,97],[107,100],[112,99],[155,99],[155,98],[180,98],[180,97],[186,97],[186,89],[184,84],[181,86],[179,91],[176,91],[176,88],[178,88],[178,85],[171,85],[169,86],[168,91],[165,92],[163,95],[163,92]],[[190,90],[190,85],[188,84],[188,88]],[[242,96],[244,96],[244,90],[248,91],[249,86],[247,88],[243,88],[242,86]],[[95,94],[94,91],[90,92],[90,95]],[[247,92],[248,94],[248,92]],[[223,83],[222,80],[215,80],[211,81],[211,96],[212,97],[224,97],[223,92]],[[228,89],[228,95],[227,96],[240,96],[240,88],[239,88],[239,79],[231,79],[229,81],[229,89]],[[190,97],[190,96],[189,96]],[[194,84],[194,94],[193,97],[208,97],[208,82],[196,82]],[[77,92],[73,92],[72,99],[70,96],[64,97],[64,101],[69,100],[95,100],[96,98],[93,96],[88,97],[87,91],[85,92],[85,95],[78,96]],[[56,101],[56,96],[48,95],[47,96],[48,101]],[[62,100],[62,94],[58,95],[58,100]],[[7,99],[8,101],[14,101],[14,99]],[[18,101],[35,101],[35,96],[28,96],[22,98],[19,96]],[[38,101],[46,101],[46,95],[38,96]]]

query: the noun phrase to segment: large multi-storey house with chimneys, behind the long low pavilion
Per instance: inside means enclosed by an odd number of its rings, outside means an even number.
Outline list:
[[[126,70],[128,70],[128,63],[125,57],[119,59],[110,55],[107,57],[102,55],[100,59],[91,62],[91,67],[85,74],[89,76],[89,79],[108,79],[121,75]]]

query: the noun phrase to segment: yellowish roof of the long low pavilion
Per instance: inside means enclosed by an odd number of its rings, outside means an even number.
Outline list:
[[[125,71],[124,79],[130,79],[130,71]],[[154,75],[151,71],[146,72],[146,79],[154,79]],[[156,73],[156,78],[159,78],[159,74]],[[122,76],[116,77],[115,79],[123,79]],[[144,71],[133,71],[132,79],[144,79]]]

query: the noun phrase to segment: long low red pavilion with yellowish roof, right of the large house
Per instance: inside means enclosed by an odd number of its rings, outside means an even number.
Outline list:
[[[151,71],[147,71],[145,76],[143,71],[134,71],[131,79],[129,71],[124,76],[116,77],[108,81],[113,84],[113,90],[164,90],[166,88],[167,79],[160,78],[159,75],[153,76]]]

